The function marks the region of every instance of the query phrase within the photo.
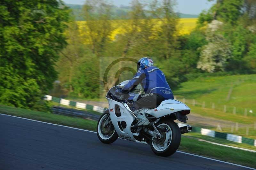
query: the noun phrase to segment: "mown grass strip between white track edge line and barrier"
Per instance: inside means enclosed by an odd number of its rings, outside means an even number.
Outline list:
[[[52,113],[31,111],[15,107],[0,105],[0,113],[13,116],[24,117],[28,119],[40,120],[75,128],[96,130],[96,121],[85,120],[81,118],[73,118]],[[198,155],[216,158],[227,162],[232,162],[244,166],[256,168],[255,157],[256,153],[241,151],[233,148],[213,145],[211,143],[200,142],[193,138],[182,136],[179,150],[195,153]]]

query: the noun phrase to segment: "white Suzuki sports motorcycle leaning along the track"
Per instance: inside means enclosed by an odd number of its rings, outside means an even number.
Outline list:
[[[97,124],[97,135],[102,143],[113,143],[118,137],[129,141],[144,143],[151,146],[158,156],[170,156],[180,146],[181,134],[188,133],[192,127],[180,127],[174,120],[186,123],[190,108],[174,99],[164,100],[156,108],[143,108],[149,125],[136,126],[138,118],[130,110],[125,99],[129,96],[140,95],[139,84],[129,94],[116,94],[116,88],[122,88],[129,80],[109,89],[106,98],[109,108],[104,110]],[[128,95],[128,96],[127,96]]]

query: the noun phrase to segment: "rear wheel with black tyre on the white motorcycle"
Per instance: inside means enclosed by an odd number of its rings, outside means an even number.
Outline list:
[[[168,132],[159,131],[161,133],[160,139],[152,137],[152,151],[158,156],[171,156],[180,146],[181,134],[179,126],[171,120],[159,121],[155,126]]]

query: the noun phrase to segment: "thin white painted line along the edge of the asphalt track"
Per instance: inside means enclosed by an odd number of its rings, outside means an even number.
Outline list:
[[[2,113],[0,113],[0,115],[11,116],[11,117],[20,118],[20,119],[25,119],[25,120],[31,120],[31,121],[35,121],[35,122],[40,122],[40,123],[45,123],[45,124],[50,124],[50,125],[55,125],[55,126],[61,126],[61,127],[65,127],[65,128],[71,128],[71,129],[76,129],[76,130],[82,130],[82,131],[86,131],[86,132],[97,133],[97,132],[94,132],[94,131],[91,131],[91,130],[84,130],[84,129],[79,129],[79,128],[73,128],[73,127],[64,126],[64,125],[57,125],[57,124],[54,124],[54,123],[48,123],[48,122],[43,122],[43,121],[38,121],[38,120],[33,120],[33,119],[27,119],[27,118],[22,118],[22,117],[17,117],[17,116],[2,114]],[[200,155],[195,155],[195,154],[192,154],[192,153],[187,153],[187,152],[182,152],[182,151],[176,151],[176,152],[184,153],[184,154],[191,155],[191,156],[196,156],[196,157],[199,157],[199,158],[210,159],[210,160],[214,160],[214,161],[217,161],[217,162],[222,162],[222,163],[226,163],[226,164],[230,164],[230,165],[234,165],[234,166],[240,166],[240,167],[244,167],[244,168],[256,170],[255,168],[251,168],[251,167],[248,167],[248,166],[233,164],[233,163],[230,163],[230,162],[225,162],[225,161],[221,161],[221,160],[213,159],[213,158],[207,158],[207,157],[203,157],[203,156],[200,156]]]

